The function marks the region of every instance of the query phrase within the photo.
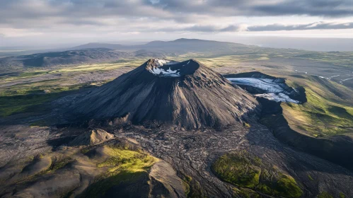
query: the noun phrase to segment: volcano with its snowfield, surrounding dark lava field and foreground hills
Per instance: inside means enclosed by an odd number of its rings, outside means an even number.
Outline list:
[[[0,196],[349,197],[352,138],[298,138],[282,110],[306,107],[308,91],[149,59],[50,111],[0,120]]]

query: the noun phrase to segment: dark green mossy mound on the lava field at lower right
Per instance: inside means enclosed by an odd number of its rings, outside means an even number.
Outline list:
[[[242,151],[226,153],[212,165],[214,173],[226,182],[238,187],[246,187],[257,192],[276,197],[301,197],[303,191],[293,177],[282,173],[278,168],[265,168],[260,158]],[[241,188],[240,188],[241,189]],[[253,193],[241,191],[244,197],[255,197]],[[245,195],[246,196],[245,196]]]

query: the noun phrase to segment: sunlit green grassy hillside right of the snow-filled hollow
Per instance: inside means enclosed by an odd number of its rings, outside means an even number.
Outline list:
[[[345,105],[327,88],[315,81],[305,82],[307,103],[282,103],[284,116],[291,127],[310,136],[337,135],[350,132],[353,127],[352,107]],[[342,88],[334,82],[333,86]],[[345,91],[343,87],[342,90]]]

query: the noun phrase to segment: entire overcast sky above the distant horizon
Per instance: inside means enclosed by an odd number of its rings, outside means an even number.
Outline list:
[[[0,0],[0,47],[244,36],[353,38],[353,0]]]

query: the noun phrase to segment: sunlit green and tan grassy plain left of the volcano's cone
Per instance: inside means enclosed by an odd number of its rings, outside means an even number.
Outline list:
[[[43,110],[52,100],[80,88],[100,86],[144,61],[134,59],[62,68],[30,68],[0,76],[0,117]]]

